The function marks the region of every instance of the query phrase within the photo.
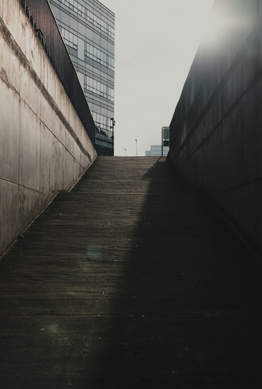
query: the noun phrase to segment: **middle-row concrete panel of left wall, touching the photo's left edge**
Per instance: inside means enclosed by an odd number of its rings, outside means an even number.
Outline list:
[[[18,184],[19,96],[0,77],[0,177]]]

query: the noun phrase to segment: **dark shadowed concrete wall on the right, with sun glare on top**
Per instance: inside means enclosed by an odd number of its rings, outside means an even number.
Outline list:
[[[262,2],[216,0],[170,124],[169,161],[262,249]]]

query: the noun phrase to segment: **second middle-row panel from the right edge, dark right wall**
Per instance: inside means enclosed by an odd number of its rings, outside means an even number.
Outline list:
[[[241,100],[222,121],[222,191],[241,184]]]

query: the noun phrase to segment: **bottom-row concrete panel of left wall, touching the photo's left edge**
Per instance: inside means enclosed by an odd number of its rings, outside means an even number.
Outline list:
[[[18,235],[18,185],[0,179],[0,253]]]

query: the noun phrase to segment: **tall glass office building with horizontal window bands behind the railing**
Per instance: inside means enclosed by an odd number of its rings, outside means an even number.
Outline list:
[[[49,0],[96,123],[96,152],[114,155],[115,15],[97,0]]]

